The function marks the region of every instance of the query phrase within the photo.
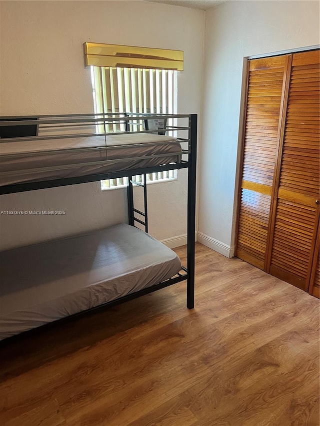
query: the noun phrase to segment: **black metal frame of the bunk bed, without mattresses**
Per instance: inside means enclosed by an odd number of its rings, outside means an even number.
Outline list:
[[[92,117],[96,114],[81,114],[83,117]],[[112,118],[110,119],[110,115],[113,114],[103,114],[106,119],[102,119],[108,122],[112,122]],[[75,117],[79,117],[79,115],[75,115]],[[138,222],[144,226],[145,232],[148,232],[148,217],[147,217],[147,188],[146,188],[146,174],[153,173],[158,171],[167,171],[167,170],[176,170],[176,169],[188,169],[188,178],[187,178],[187,265],[186,268],[182,267],[180,272],[176,274],[174,277],[169,278],[165,281],[162,281],[158,284],[152,285],[151,287],[144,288],[134,293],[130,293],[126,296],[122,296],[116,300],[103,303],[94,308],[87,309],[85,311],[78,312],[76,314],[72,314],[68,317],[61,318],[59,320],[55,320],[52,323],[44,324],[42,326],[36,327],[34,329],[19,333],[18,335],[14,335],[8,337],[2,341],[0,341],[0,347],[3,344],[9,343],[12,340],[18,339],[20,336],[28,336],[37,332],[42,327],[47,327],[50,324],[58,324],[62,323],[66,320],[71,320],[72,318],[79,317],[85,315],[92,311],[103,310],[106,307],[114,306],[120,304],[122,302],[126,302],[128,300],[135,299],[139,296],[143,296],[148,293],[152,293],[156,290],[160,290],[164,287],[168,287],[175,283],[185,281],[186,280],[186,306],[188,309],[192,309],[194,307],[194,240],[195,240],[195,183],[196,183],[196,137],[197,137],[197,114],[127,114],[124,113],[124,123],[125,123],[125,131],[129,131],[129,120],[134,116],[135,119],[152,119],[152,118],[188,118],[188,138],[181,139],[183,141],[188,142],[188,149],[182,150],[182,154],[186,153],[188,155],[187,160],[182,160],[178,163],[170,163],[167,165],[159,165],[152,167],[144,167],[133,170],[122,170],[116,172],[109,173],[99,173],[99,174],[90,174],[85,176],[78,177],[70,177],[70,178],[61,178],[47,181],[36,181],[36,182],[26,182],[19,184],[12,184],[6,186],[0,186],[0,195],[2,194],[11,194],[16,192],[24,192],[31,191],[36,189],[44,189],[65,185],[73,185],[78,183],[87,183],[93,181],[99,181],[104,179],[115,179],[119,177],[128,177],[128,185],[127,185],[127,204],[128,204],[128,223],[131,226],[134,226],[134,222]],[[45,118],[57,117],[57,116],[43,116]],[[63,117],[63,116],[58,116]],[[67,117],[72,117],[71,115],[67,115]],[[100,115],[99,115],[100,117]],[[8,125],[12,117],[1,117],[0,126]],[[27,125],[26,120],[30,120],[30,117],[20,116],[14,117],[14,119],[19,119],[20,121],[15,121],[14,125]],[[123,118],[122,118],[123,119]],[[178,127],[171,127],[171,130],[179,129]],[[180,129],[185,129],[180,127]],[[154,132],[154,131],[153,131]],[[139,132],[132,132],[139,133]],[[151,131],[150,131],[151,133]],[[107,134],[107,133],[106,133]],[[21,138],[23,139],[23,138]],[[53,138],[54,139],[54,138]],[[179,138],[178,138],[179,139]],[[6,139],[7,140],[7,139]],[[4,142],[4,139],[0,139],[0,141]],[[135,182],[132,180],[132,176],[134,175],[143,175],[143,183]],[[144,212],[134,208],[134,199],[133,199],[133,184],[137,184],[143,187],[143,199],[144,199]],[[137,218],[135,214],[140,215],[143,220]],[[181,273],[182,271],[182,273]]]

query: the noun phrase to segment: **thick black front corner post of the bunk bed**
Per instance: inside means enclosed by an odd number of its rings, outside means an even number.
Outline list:
[[[187,271],[186,307],[194,308],[195,171],[197,115],[189,117],[189,166],[187,200]]]

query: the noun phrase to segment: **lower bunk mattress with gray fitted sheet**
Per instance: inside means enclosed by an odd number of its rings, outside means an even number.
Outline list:
[[[126,224],[0,252],[0,340],[152,286],[180,268],[172,250]]]

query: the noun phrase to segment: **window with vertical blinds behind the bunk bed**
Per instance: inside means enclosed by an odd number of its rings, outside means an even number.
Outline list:
[[[91,81],[95,113],[137,112],[164,113],[176,112],[177,71],[170,69],[144,69],[124,67],[91,66]],[[168,119],[168,126],[175,120]],[[104,131],[101,125],[99,131]],[[124,131],[124,124],[109,125],[110,131]],[[143,130],[143,124],[140,125]],[[173,131],[167,134],[173,135]],[[148,173],[147,182],[175,180],[177,170]],[[133,180],[142,181],[142,176]],[[112,189],[127,185],[126,178],[101,181],[101,189]]]

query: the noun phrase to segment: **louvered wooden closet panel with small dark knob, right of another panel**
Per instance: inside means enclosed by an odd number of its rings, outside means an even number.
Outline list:
[[[308,290],[319,220],[319,51],[295,53],[267,272]]]

